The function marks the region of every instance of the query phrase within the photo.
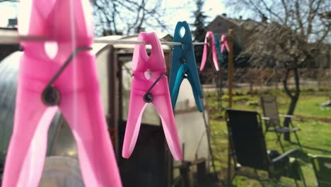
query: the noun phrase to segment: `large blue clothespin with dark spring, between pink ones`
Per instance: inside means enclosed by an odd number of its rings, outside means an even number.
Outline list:
[[[180,30],[185,28],[185,34],[181,35]],[[184,45],[175,45],[173,47],[173,61],[171,63],[169,89],[171,103],[175,108],[180,84],[182,80],[187,78],[192,86],[195,103],[200,112],[204,111],[202,99],[204,94],[197,72],[197,64],[195,62],[194,50],[192,46],[192,36],[190,28],[186,21],[179,21],[175,28],[173,36],[174,42],[181,42]]]

